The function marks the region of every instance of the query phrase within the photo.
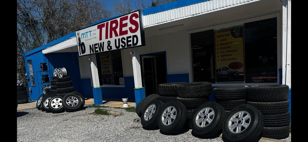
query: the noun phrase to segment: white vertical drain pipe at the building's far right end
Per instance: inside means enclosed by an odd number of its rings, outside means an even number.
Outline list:
[[[287,46],[286,46],[286,60],[285,60],[285,85],[289,85],[291,88],[291,84],[289,83],[289,66],[291,64],[291,0],[288,0],[287,3]]]

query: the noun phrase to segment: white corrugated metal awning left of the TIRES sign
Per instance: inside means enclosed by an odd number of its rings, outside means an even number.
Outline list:
[[[73,49],[71,49],[68,52],[78,52],[76,36],[74,36],[72,38],[69,38],[67,40],[64,40],[64,41],[62,41],[60,43],[57,43],[57,44],[55,44],[53,46],[50,46],[48,48],[45,48],[45,49],[42,50],[42,52],[43,52],[43,54],[52,53],[52,52],[56,52],[56,51],[58,51],[58,52],[67,52],[64,49],[67,49],[67,48],[70,49],[70,47],[73,47],[73,46],[76,46],[75,47],[76,49],[74,48],[74,51],[72,51]],[[59,50],[62,50],[62,51],[59,51]]]

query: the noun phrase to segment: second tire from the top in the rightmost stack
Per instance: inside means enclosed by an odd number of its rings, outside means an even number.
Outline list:
[[[261,111],[263,115],[285,114],[289,112],[289,101],[281,102],[246,102]]]

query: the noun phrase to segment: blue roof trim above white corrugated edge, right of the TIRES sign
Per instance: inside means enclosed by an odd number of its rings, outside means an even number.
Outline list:
[[[179,7],[183,7],[183,6],[187,6],[187,5],[191,5],[195,3],[205,2],[205,1],[208,1],[208,0],[178,0],[175,2],[166,3],[163,5],[156,6],[156,7],[143,9],[142,15],[158,13],[158,12],[162,12],[162,11],[166,11],[166,10],[170,10],[174,8],[179,8]]]

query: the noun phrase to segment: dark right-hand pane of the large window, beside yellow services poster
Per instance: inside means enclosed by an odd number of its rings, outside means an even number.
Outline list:
[[[244,23],[246,83],[277,83],[277,18]]]

